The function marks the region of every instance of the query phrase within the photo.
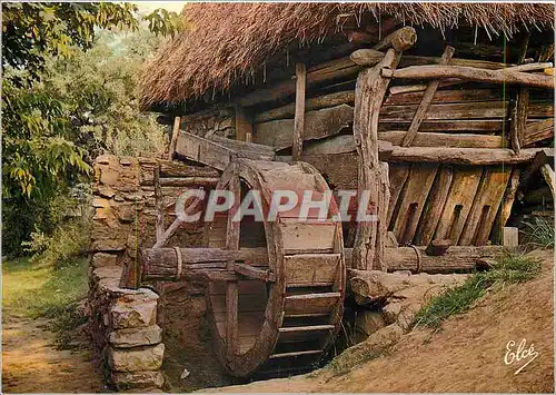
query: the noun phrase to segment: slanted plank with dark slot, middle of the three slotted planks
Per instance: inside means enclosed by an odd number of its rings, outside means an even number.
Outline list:
[[[458,168],[454,172],[448,198],[444,205],[434,238],[449,239],[454,244],[459,240],[481,175],[483,168],[480,167]]]

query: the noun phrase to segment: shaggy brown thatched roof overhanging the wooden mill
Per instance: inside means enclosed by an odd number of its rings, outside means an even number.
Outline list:
[[[508,37],[554,23],[547,3],[192,3],[182,14],[188,29],[146,66],[143,108],[226,90],[292,42],[338,33],[349,16],[441,30],[466,24]]]

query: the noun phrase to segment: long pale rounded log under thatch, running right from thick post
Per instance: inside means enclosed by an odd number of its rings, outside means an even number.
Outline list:
[[[554,90],[553,77],[522,71],[508,71],[507,69],[493,71],[461,66],[409,66],[398,70],[384,70],[383,76],[399,79],[460,78],[468,81],[523,85],[530,88]]]

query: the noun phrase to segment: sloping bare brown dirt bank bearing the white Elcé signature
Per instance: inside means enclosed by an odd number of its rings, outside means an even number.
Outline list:
[[[543,274],[526,284],[490,294],[443,330],[415,330],[383,357],[345,375],[329,371],[211,388],[207,392],[497,392],[554,393],[553,251],[536,253]],[[538,357],[506,365],[507,343],[526,339]],[[515,350],[514,346],[514,350]]]

